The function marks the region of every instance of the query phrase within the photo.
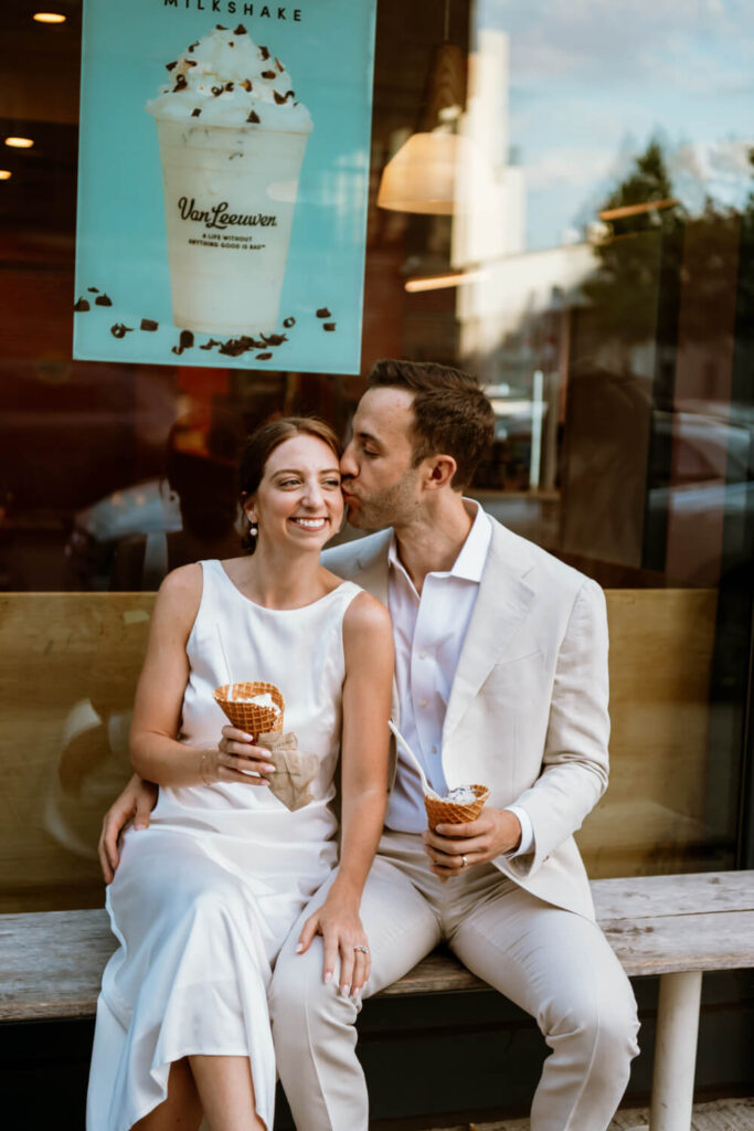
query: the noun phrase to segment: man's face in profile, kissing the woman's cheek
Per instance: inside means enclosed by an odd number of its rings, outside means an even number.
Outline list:
[[[340,473],[348,521],[362,530],[404,526],[419,508],[419,469],[411,444],[414,395],[379,387],[365,392]]]

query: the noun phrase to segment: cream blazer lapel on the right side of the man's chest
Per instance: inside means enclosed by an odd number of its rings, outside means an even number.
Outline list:
[[[531,586],[523,580],[531,569],[530,563],[527,561],[517,568],[513,559],[515,547],[510,545],[509,538],[508,530],[493,520],[479,593],[448,700],[443,745],[494,665],[505,654],[535,596]]]

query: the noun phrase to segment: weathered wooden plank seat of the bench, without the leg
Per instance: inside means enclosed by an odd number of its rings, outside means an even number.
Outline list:
[[[624,969],[648,975],[754,966],[753,887],[754,872],[723,872],[597,880],[592,891]],[[0,915],[0,1020],[93,1016],[114,947],[104,909]],[[436,951],[382,992],[483,988]]]

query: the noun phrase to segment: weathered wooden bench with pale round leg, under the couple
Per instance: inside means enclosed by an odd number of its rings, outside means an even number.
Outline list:
[[[626,974],[660,976],[651,1131],[688,1131],[702,974],[754,966],[754,872],[596,880],[592,891]],[[0,915],[0,1021],[93,1017],[114,946],[104,910]],[[484,988],[435,951],[382,993]]]

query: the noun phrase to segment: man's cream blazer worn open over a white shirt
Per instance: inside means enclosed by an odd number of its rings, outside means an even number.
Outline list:
[[[493,536],[442,733],[449,786],[489,786],[488,804],[531,818],[535,849],[496,866],[557,907],[593,917],[573,834],[607,786],[607,616],[589,578],[492,519]],[[381,530],[323,564],[388,604]],[[393,689],[393,718],[400,708]],[[390,784],[395,779],[392,752]]]

